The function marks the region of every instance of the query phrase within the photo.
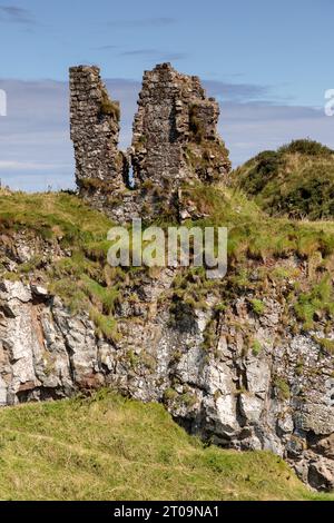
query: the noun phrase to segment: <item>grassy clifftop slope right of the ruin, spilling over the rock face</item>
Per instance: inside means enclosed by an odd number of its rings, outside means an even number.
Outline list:
[[[191,226],[228,228],[228,273],[222,282],[206,287],[204,277],[186,272],[175,282],[176,295],[189,306],[199,308],[208,293],[219,296],[225,305],[252,292],[249,305],[257,316],[265,313],[263,298],[275,285],[286,307],[286,326],[295,317],[302,327],[312,329],[318,319],[333,325],[334,223],[293,221],[274,218],[262,211],[238,189],[195,186],[183,190],[204,218]],[[288,259],[307,264],[307,277],[301,265],[284,265]],[[287,284],[282,288],[282,280]],[[190,282],[190,283],[189,283]],[[195,289],[195,293],[194,293]],[[284,294],[285,293],[285,294]],[[291,324],[293,326],[293,323]],[[296,326],[294,326],[295,328]]]

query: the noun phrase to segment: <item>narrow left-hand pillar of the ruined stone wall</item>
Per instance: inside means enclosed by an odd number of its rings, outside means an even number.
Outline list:
[[[119,103],[110,100],[97,67],[70,69],[71,139],[81,196],[125,188],[125,156],[118,149]]]

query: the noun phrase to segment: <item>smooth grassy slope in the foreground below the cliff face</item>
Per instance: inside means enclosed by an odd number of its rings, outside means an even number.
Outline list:
[[[161,405],[101,391],[0,411],[1,500],[334,500],[269,453],[205,447]]]

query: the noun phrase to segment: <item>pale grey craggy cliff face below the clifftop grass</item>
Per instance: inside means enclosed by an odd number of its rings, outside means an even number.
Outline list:
[[[166,270],[143,285],[139,304],[124,305],[117,346],[99,339],[88,316],[72,317],[43,288],[2,282],[0,404],[114,386],[143,401],[164,401],[203,437],[273,451],[313,487],[334,489],[333,355],[322,353],[311,335],[283,336],[275,299],[257,318],[245,298],[220,313],[217,347],[207,353],[203,342],[212,308],[180,310],[173,325],[167,304],[158,300],[173,277]],[[263,345],[257,356],[245,352],[240,319],[257,332]]]

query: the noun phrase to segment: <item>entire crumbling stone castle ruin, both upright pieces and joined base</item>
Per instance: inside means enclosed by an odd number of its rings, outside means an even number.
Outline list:
[[[219,107],[198,77],[170,63],[144,73],[131,147],[118,148],[119,103],[97,67],[70,69],[71,139],[80,195],[118,221],[179,210],[180,188],[230,170],[217,132]],[[130,180],[130,166],[134,179]]]

